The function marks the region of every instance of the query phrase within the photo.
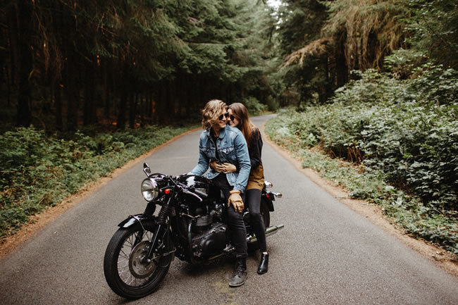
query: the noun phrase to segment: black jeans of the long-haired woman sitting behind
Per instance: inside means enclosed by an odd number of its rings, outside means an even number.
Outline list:
[[[245,193],[245,201],[249,208],[254,234],[258,239],[259,250],[266,252],[266,226],[261,216],[261,189],[247,189]]]

